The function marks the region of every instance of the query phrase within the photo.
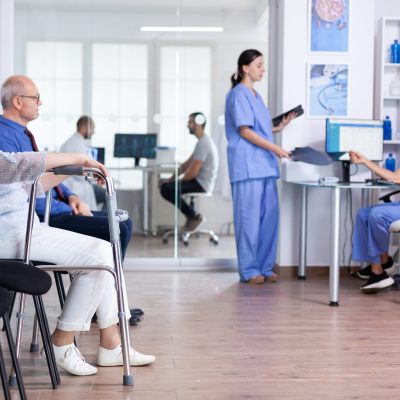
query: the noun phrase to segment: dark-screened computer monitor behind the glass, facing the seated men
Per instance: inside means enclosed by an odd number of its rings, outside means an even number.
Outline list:
[[[156,158],[157,134],[116,133],[114,137],[114,157],[134,158],[135,166],[141,158]]]

